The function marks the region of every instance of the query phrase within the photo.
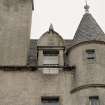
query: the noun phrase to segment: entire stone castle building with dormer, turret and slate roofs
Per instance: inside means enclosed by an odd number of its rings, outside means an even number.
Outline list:
[[[0,105],[105,105],[105,34],[85,6],[72,40],[53,26],[30,38],[32,0],[0,0]]]

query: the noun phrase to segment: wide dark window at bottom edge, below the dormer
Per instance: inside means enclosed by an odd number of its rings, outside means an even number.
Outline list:
[[[41,102],[43,105],[59,105],[59,97],[42,97]]]

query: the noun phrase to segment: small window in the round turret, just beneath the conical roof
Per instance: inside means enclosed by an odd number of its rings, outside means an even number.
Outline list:
[[[96,61],[96,52],[95,49],[86,50],[86,59],[88,63],[94,63]]]

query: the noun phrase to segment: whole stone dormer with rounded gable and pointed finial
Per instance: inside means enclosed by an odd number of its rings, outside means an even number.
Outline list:
[[[58,74],[64,66],[64,40],[50,25],[37,42],[38,66],[44,74]]]

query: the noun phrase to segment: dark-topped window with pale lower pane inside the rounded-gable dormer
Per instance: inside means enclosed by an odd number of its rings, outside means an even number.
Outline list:
[[[44,50],[43,51],[43,65],[45,66],[57,66],[58,62],[58,50]]]

